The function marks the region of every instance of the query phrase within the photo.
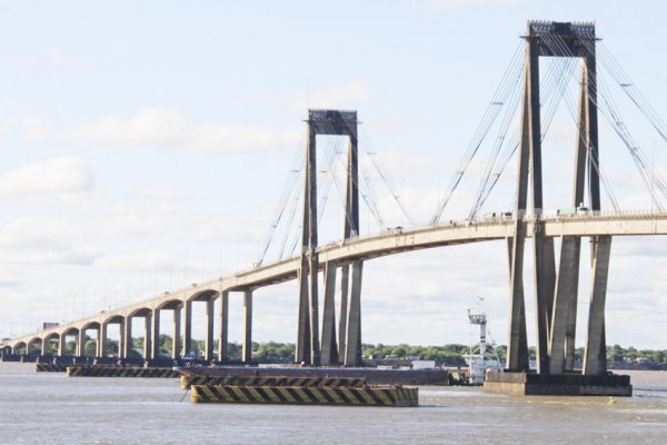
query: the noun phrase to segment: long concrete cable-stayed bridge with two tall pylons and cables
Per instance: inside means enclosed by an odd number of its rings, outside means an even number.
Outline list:
[[[360,192],[366,177],[359,167],[358,119],[355,111],[310,110],[307,120],[307,141],[302,181],[295,180],[287,192],[271,225],[266,248],[257,265],[230,277],[217,278],[186,289],[166,293],[149,300],[126,307],[106,310],[91,317],[54,326],[27,336],[0,344],[4,352],[33,354],[46,353],[52,344],[58,344],[58,355],[83,355],[84,340],[89,330],[97,330],[97,356],[106,356],[107,329],[118,325],[119,357],[129,357],[132,349],[132,319],[143,318],[143,356],[147,359],[160,355],[158,338],[161,332],[162,312],[171,312],[173,347],[172,358],[191,353],[192,303],[206,303],[206,350],[207,359],[227,358],[228,298],[229,293],[243,293],[243,353],[245,362],[251,362],[252,339],[252,295],[258,288],[277,283],[297,279],[299,283],[298,333],[296,360],[311,365],[345,364],[359,365],[361,362],[361,283],[364,263],[372,258],[397,255],[416,249],[436,248],[457,244],[485,240],[507,240],[509,257],[510,319],[508,336],[509,369],[528,368],[528,339],[526,334],[526,310],[524,300],[524,258],[526,239],[531,239],[535,267],[535,298],[537,326],[536,354],[538,372],[560,374],[574,366],[574,339],[576,308],[579,295],[578,276],[580,245],[583,238],[590,238],[591,248],[591,296],[588,314],[587,344],[583,373],[598,375],[606,373],[605,359],[605,298],[608,280],[611,239],[615,236],[666,235],[667,215],[661,199],[667,196],[667,184],[648,161],[631,134],[620,118],[607,87],[598,82],[598,52],[607,60],[607,68],[614,81],[631,102],[646,116],[661,139],[666,139],[666,126],[650,108],[648,101],[638,93],[627,75],[615,60],[598,51],[595,26],[593,23],[529,22],[525,44],[515,53],[502,77],[470,145],[448,184],[429,224],[424,227],[394,227],[377,236],[360,234],[360,201],[380,220],[379,208],[372,200],[372,187],[366,186]],[[521,57],[521,53],[524,57]],[[539,59],[552,58],[551,70],[539,73]],[[579,103],[570,103],[573,120],[577,128],[574,166],[571,207],[557,215],[545,212],[542,197],[542,154],[545,135],[561,101],[568,81],[581,63]],[[542,86],[544,83],[544,86]],[[540,95],[540,88],[544,95]],[[598,110],[609,121],[614,131],[627,147],[630,157],[646,185],[656,212],[633,214],[620,211],[611,185],[605,176],[604,162],[599,156]],[[518,111],[518,112],[517,112]],[[492,141],[492,150],[480,180],[478,192],[464,219],[446,217],[452,195],[469,170],[474,157],[491,131],[498,125],[498,136]],[[512,132],[512,123],[518,128]],[[318,140],[322,137],[342,137],[347,141],[345,184],[331,176],[323,187],[318,181]],[[327,148],[327,147],[325,147]],[[326,151],[326,150],[325,150]],[[327,166],[339,159],[340,150],[329,147]],[[517,181],[514,204],[507,211],[494,211],[480,216],[489,195],[506,167],[517,155]],[[327,158],[327,156],[325,156]],[[328,167],[329,168],[329,167]],[[380,172],[384,179],[386,174]],[[334,244],[319,243],[319,228],[322,201],[321,189],[335,184],[340,190],[344,208],[342,239]],[[289,199],[298,192],[300,199]],[[607,194],[610,211],[603,211],[603,191]],[[400,212],[406,215],[405,202],[391,190]],[[290,207],[291,204],[291,207]],[[269,247],[275,243],[275,234],[286,220],[293,225],[295,215],[302,209],[300,225],[295,240],[285,237],[278,249],[283,258],[286,246],[297,255],[275,263],[265,261]],[[560,255],[556,260],[555,240],[560,243]],[[323,284],[323,289],[320,287]],[[337,298],[338,296],[338,298]],[[320,300],[321,297],[321,300]],[[338,299],[338,301],[336,301]],[[213,312],[219,300],[220,312]],[[336,307],[338,309],[338,320]],[[320,326],[321,324],[321,326]],[[216,325],[218,329],[216,329]],[[76,350],[66,349],[68,338],[76,339]],[[213,345],[218,342],[218,350]]]

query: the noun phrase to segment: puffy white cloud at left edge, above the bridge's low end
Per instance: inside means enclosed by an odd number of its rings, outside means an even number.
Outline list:
[[[61,157],[28,164],[0,176],[0,195],[71,195],[92,189],[91,164]]]

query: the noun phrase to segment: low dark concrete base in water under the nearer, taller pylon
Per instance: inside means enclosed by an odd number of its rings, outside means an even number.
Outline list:
[[[489,372],[484,389],[516,396],[631,397],[630,376]]]

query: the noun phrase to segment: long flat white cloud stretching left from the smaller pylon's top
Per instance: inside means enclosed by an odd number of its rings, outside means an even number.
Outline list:
[[[31,117],[23,120],[22,135],[29,142],[225,152],[293,147],[301,131],[267,126],[196,125],[175,110],[145,108],[131,116],[111,115],[64,130],[50,128]]]

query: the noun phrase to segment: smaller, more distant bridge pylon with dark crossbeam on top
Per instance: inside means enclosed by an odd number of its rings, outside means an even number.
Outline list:
[[[344,239],[359,235],[358,137],[357,112],[308,110],[306,145],[306,187],[301,266],[299,269],[299,322],[295,359],[310,365],[361,363],[361,260],[351,264],[327,264],[325,301],[319,339],[318,301],[318,212],[317,212],[317,136],[340,135],[349,138]],[[336,336],[336,270],[341,269],[339,338]],[[350,274],[351,268],[351,274]]]

